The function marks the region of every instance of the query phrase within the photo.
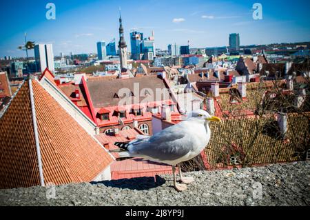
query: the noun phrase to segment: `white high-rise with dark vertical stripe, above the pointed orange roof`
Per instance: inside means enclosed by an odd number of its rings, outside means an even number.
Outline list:
[[[54,72],[54,54],[52,44],[38,44],[34,46],[34,57],[37,63],[37,71],[43,72],[48,68]]]

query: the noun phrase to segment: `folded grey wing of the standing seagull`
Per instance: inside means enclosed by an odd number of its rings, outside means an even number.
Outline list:
[[[193,139],[181,126],[172,126],[149,139],[134,142],[128,147],[135,157],[147,156],[161,161],[172,161],[192,150]]]

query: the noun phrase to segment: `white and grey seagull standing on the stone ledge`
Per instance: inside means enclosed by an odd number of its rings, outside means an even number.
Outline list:
[[[185,184],[192,183],[194,178],[183,177],[178,166],[181,183],[177,183],[176,165],[193,159],[205,149],[211,138],[210,121],[220,122],[221,120],[204,110],[194,110],[189,113],[185,121],[165,128],[152,137],[138,135],[129,143],[116,142],[114,145],[120,149],[110,150],[110,152],[120,152],[120,157],[142,157],[172,166],[174,188],[181,192],[187,189]]]

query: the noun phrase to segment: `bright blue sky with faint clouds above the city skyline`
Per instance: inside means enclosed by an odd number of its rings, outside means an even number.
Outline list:
[[[56,20],[45,18],[47,3],[56,5]],[[262,20],[254,20],[252,6],[262,3]],[[118,41],[121,7],[125,39],[136,29],[147,37],[154,30],[157,48],[167,44],[192,47],[227,46],[231,32],[241,45],[310,41],[309,0],[28,0],[1,1],[0,57],[24,56],[17,50],[28,40],[52,43],[54,54],[96,52],[96,41]],[[32,55],[33,52],[30,52]]]

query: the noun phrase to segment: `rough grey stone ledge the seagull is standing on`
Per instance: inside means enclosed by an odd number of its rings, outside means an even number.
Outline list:
[[[0,206],[309,206],[310,161],[172,176],[0,190]]]

